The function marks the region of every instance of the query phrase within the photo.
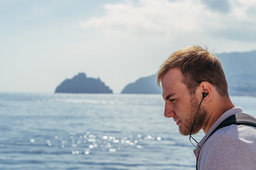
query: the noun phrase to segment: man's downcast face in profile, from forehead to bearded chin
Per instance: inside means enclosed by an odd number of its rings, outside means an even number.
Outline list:
[[[186,84],[183,84],[183,75],[178,68],[170,69],[162,81],[163,98],[165,101],[164,116],[174,118],[181,135],[189,135],[199,103],[195,95],[189,94]],[[201,108],[197,115],[192,134],[198,132],[206,117],[206,110]]]

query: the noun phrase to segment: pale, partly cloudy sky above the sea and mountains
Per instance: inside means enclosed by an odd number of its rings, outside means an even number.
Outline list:
[[[0,16],[1,92],[85,72],[118,94],[188,45],[256,50],[255,0],[0,0]]]

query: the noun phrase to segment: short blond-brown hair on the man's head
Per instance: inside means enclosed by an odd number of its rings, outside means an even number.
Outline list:
[[[194,94],[202,81],[215,86],[220,96],[228,96],[228,83],[218,58],[199,46],[188,46],[171,54],[157,72],[157,84],[160,86],[166,72],[178,68],[183,74],[183,83]]]

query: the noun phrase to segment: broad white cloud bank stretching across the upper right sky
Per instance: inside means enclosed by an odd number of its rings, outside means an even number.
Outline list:
[[[92,17],[81,26],[127,37],[256,42],[251,36],[255,36],[256,27],[256,2],[252,0],[139,0],[106,4],[104,8],[104,16]],[[232,33],[225,36],[228,30]]]

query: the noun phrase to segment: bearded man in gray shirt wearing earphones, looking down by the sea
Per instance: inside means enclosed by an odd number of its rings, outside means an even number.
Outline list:
[[[174,118],[181,135],[206,133],[194,150],[197,169],[256,169],[255,127],[229,125],[210,136],[230,115],[243,113],[230,101],[215,55],[198,46],[178,50],[161,65],[157,83],[163,89],[164,115]]]

